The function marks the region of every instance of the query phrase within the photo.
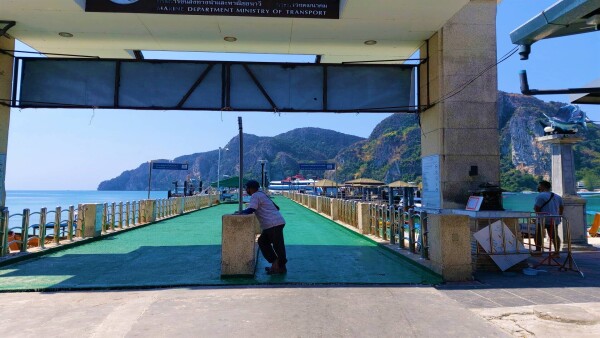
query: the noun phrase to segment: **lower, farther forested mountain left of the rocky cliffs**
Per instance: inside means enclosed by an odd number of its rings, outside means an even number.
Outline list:
[[[329,161],[344,148],[363,138],[320,128],[299,128],[274,137],[244,134],[244,176],[260,178],[258,160],[267,160],[269,178],[282,179],[298,173],[298,163]],[[221,176],[237,176],[239,171],[239,136],[229,141],[229,150],[221,150]],[[171,189],[172,182],[183,181],[189,175],[203,181],[204,186],[217,180],[218,150],[184,155],[173,162],[188,163],[188,172],[153,170],[152,189]],[[168,161],[157,159],[155,161]],[[100,183],[98,190],[145,190],[148,188],[148,163]],[[317,174],[317,173],[312,173]],[[322,176],[322,173],[321,173]]]

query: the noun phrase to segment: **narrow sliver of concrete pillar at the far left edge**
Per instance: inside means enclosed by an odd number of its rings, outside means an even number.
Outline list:
[[[0,48],[14,50],[15,39],[0,36]],[[12,94],[14,58],[0,53],[0,98],[10,98]],[[8,104],[8,102],[2,102]],[[8,129],[10,125],[10,107],[0,105],[0,208],[6,205],[6,155],[8,152]]]

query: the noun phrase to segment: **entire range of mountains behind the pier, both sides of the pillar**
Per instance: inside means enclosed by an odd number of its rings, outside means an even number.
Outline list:
[[[498,93],[498,122],[502,188],[509,191],[534,190],[537,181],[550,176],[550,149],[537,143],[543,135],[543,113],[553,116],[560,102],[544,102],[520,94]],[[577,179],[588,188],[600,188],[600,128],[588,124],[584,141],[575,147]],[[221,174],[237,176],[239,140],[233,138],[221,152]],[[244,135],[247,177],[260,177],[258,160],[269,161],[271,180],[298,173],[299,162],[335,161],[336,172],[326,177],[344,182],[369,177],[385,182],[419,181],[421,176],[421,135],[415,114],[394,114],[379,123],[368,139],[320,128],[294,129],[275,137]],[[173,159],[187,162],[189,173],[153,171],[153,189],[167,190],[174,180],[186,175],[205,182],[216,181],[218,150]],[[321,177],[323,172],[305,172]],[[148,184],[148,164],[100,183],[99,190],[144,190]]]

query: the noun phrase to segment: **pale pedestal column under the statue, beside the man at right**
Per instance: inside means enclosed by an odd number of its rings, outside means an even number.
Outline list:
[[[571,243],[587,245],[587,222],[585,199],[577,195],[573,146],[583,139],[576,135],[548,135],[537,138],[538,142],[549,143],[552,149],[552,191],[563,198],[564,216],[571,226]],[[566,227],[559,232],[563,243]]]

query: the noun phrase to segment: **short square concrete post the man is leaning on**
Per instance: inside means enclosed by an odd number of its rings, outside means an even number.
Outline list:
[[[223,215],[221,277],[254,276],[257,225],[254,215]]]

